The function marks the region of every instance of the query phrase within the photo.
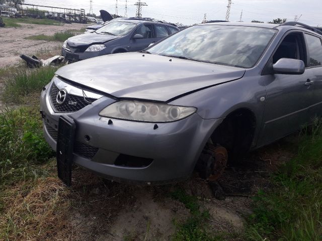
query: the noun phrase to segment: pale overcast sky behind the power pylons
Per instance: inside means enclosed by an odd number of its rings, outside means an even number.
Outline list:
[[[172,23],[185,25],[199,24],[204,15],[207,20],[225,20],[228,0],[141,0],[148,6],[142,7],[142,17],[166,20]],[[90,11],[90,0],[25,0],[26,4],[55,6],[72,9],[85,9]],[[134,17],[136,13],[136,0],[127,1],[127,16]],[[116,0],[93,0],[93,12],[99,15],[104,9],[115,14]],[[230,22],[251,22],[252,20],[268,22],[277,18],[286,18],[311,26],[322,26],[322,0],[232,0],[230,9]],[[125,0],[118,0],[118,15],[124,16]],[[300,17],[301,16],[301,17]]]

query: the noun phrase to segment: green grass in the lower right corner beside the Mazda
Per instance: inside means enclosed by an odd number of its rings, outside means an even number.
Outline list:
[[[322,240],[322,124],[301,134],[298,155],[272,179],[271,192],[254,197],[248,240]]]

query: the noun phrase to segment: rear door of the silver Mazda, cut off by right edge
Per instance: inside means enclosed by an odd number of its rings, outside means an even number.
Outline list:
[[[313,105],[309,109],[311,117],[322,116],[322,42],[321,38],[305,33],[305,41],[308,49],[308,67],[306,69],[308,80],[314,94]]]

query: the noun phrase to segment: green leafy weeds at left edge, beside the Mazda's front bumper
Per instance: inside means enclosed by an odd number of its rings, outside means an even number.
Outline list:
[[[47,161],[53,151],[43,138],[36,108],[5,109],[0,113],[0,185],[41,176],[35,165]]]

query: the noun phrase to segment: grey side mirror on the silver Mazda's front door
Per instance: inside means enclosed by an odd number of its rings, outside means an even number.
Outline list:
[[[279,59],[273,64],[274,74],[303,74],[305,71],[305,64],[298,59]]]

